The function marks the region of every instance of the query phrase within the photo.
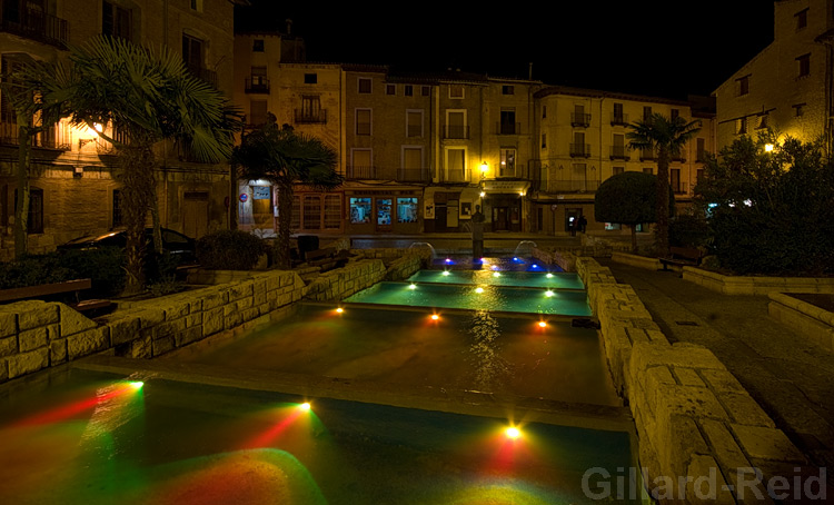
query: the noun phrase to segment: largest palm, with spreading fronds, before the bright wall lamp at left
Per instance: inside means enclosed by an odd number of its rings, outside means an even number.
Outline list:
[[[99,136],[118,154],[127,226],[125,290],[138,293],[145,286],[148,210],[153,217],[153,242],[161,250],[155,145],[173,139],[199,161],[226,160],[239,115],[220,91],[193,77],[182,58],[167,48],[99,36],[72,49],[70,71],[60,75],[64,80],[59,89],[44,93],[44,101],[66,103],[73,126],[112,126],[113,133]]]

